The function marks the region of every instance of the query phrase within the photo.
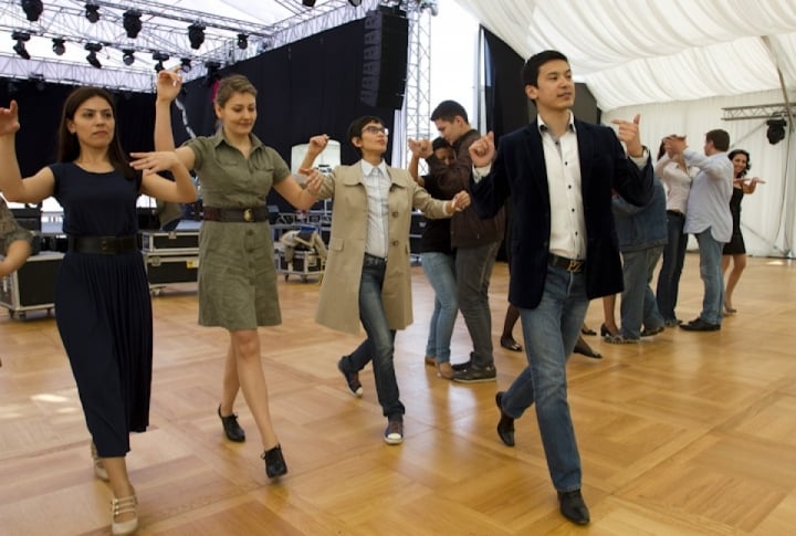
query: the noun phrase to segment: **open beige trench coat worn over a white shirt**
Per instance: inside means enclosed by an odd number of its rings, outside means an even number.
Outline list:
[[[446,203],[419,187],[408,171],[387,167],[392,185],[388,204],[388,253],[381,301],[390,329],[412,323],[409,224],[412,208],[428,218],[450,218]],[[359,335],[359,280],[367,233],[368,202],[362,164],[339,166],[326,177],[320,199],[334,198],[328,258],[315,320],[333,329]]]

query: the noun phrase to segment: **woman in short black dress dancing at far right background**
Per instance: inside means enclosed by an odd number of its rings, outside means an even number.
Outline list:
[[[741,232],[741,201],[744,195],[754,193],[757,189],[757,185],[765,183],[764,180],[754,177],[752,179],[746,178],[752,164],[750,162],[748,153],[743,149],[731,150],[727,155],[730,160],[733,162],[733,172],[735,178],[733,180],[733,195],[730,198],[730,212],[733,214],[733,235],[730,242],[724,244],[722,251],[722,272],[726,273],[730,267],[730,261],[733,263],[733,269],[730,271],[730,275],[726,281],[726,290],[724,291],[724,313],[733,314],[737,309],[732,305],[732,293],[741,278],[746,267],[746,245],[743,241],[743,233]]]

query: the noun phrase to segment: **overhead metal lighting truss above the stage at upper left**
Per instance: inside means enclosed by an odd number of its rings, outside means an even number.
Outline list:
[[[190,81],[207,74],[208,62],[218,66],[230,65],[362,19],[368,10],[379,6],[379,0],[364,0],[356,8],[348,0],[326,0],[312,9],[303,7],[297,0],[269,2],[277,4],[285,14],[273,23],[264,24],[253,17],[252,21],[242,21],[179,6],[165,6],[154,0],[45,2],[39,20],[29,22],[19,1],[0,0],[0,33],[10,36],[13,32],[22,32],[30,35],[25,45],[31,54],[31,60],[14,56],[11,53],[13,42],[0,43],[0,66],[3,67],[0,73],[12,78],[35,75],[43,76],[48,82],[151,92],[157,63],[153,54],[168,56],[176,64],[182,59],[190,61],[191,69],[184,74],[186,81]],[[86,19],[85,3],[100,8],[100,19],[95,23]],[[129,9],[142,13],[143,29],[136,39],[129,39],[123,27],[124,12]],[[188,39],[188,27],[193,23],[205,27],[205,41],[198,49],[191,48]],[[247,35],[245,49],[238,46],[238,34]],[[63,39],[66,53],[56,56],[50,52],[52,39]],[[102,45],[97,54],[102,69],[86,63],[86,43]],[[2,50],[6,45],[9,53]],[[133,52],[133,64],[124,63],[124,51]]]

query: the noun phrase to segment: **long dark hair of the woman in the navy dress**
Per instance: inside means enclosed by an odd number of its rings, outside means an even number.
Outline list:
[[[122,174],[127,179],[133,179],[135,177],[135,170],[129,167],[129,162],[125,156],[124,149],[122,149],[122,143],[118,137],[116,103],[114,102],[111,93],[102,87],[77,87],[66,97],[66,102],[63,106],[63,113],[61,115],[61,126],[59,127],[57,161],[71,162],[80,157],[81,147],[80,141],[77,140],[77,135],[69,132],[67,123],[74,122],[74,115],[75,112],[77,112],[77,108],[92,97],[100,97],[111,105],[111,112],[114,116],[114,136],[111,140],[111,145],[108,146],[108,160],[111,160],[111,165],[117,172]]]

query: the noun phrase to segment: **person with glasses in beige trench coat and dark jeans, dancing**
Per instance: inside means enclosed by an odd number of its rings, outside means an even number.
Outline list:
[[[408,171],[384,161],[387,129],[381,119],[364,116],[348,128],[348,139],[363,156],[353,166],[339,166],[317,190],[318,199],[334,198],[328,258],[321,287],[318,324],[367,338],[337,364],[356,396],[363,389],[358,374],[374,362],[376,392],[388,425],[389,444],[404,441],[404,404],[392,365],[398,329],[412,322],[409,224],[412,208],[428,218],[450,218],[470,204],[465,191],[450,201],[433,199]],[[328,136],[310,141],[302,172],[326,147]]]

